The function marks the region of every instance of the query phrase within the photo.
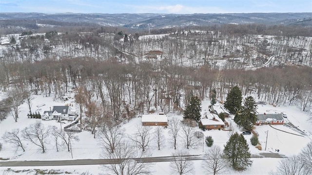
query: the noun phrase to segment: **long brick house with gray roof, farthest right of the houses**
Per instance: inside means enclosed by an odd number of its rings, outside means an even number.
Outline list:
[[[256,114],[257,116],[257,121],[256,125],[261,125],[261,124],[283,124],[284,123],[284,118],[282,114]]]

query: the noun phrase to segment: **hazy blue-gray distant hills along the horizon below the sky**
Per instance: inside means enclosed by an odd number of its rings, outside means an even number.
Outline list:
[[[58,26],[116,26],[132,29],[159,29],[185,26],[207,26],[218,24],[266,24],[312,26],[312,13],[237,13],[237,14],[43,14],[0,13],[0,26],[21,26],[27,23]],[[42,26],[42,25],[41,25]]]

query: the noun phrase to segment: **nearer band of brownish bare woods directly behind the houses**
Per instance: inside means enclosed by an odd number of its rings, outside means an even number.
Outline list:
[[[119,63],[94,58],[44,59],[34,63],[0,64],[0,89],[31,89],[34,94],[68,94],[83,87],[90,96],[110,107],[116,120],[148,113],[151,107],[164,112],[182,109],[191,91],[201,100],[215,89],[216,98],[234,86],[243,95],[271,105],[299,103],[302,110],[311,106],[312,69],[287,66],[258,70],[214,70],[208,65],[197,69],[184,66]],[[20,100],[21,101],[21,100]]]

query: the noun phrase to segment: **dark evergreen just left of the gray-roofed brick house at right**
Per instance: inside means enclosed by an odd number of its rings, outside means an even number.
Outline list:
[[[257,104],[255,103],[254,98],[249,96],[245,98],[242,109],[235,115],[234,122],[243,128],[252,130],[257,121],[257,117],[255,115],[256,111]]]

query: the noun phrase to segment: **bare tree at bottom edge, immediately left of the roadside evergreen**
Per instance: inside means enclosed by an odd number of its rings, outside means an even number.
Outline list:
[[[227,170],[227,160],[223,157],[223,151],[219,146],[212,146],[204,154],[202,167],[207,171],[207,174],[224,175]]]

